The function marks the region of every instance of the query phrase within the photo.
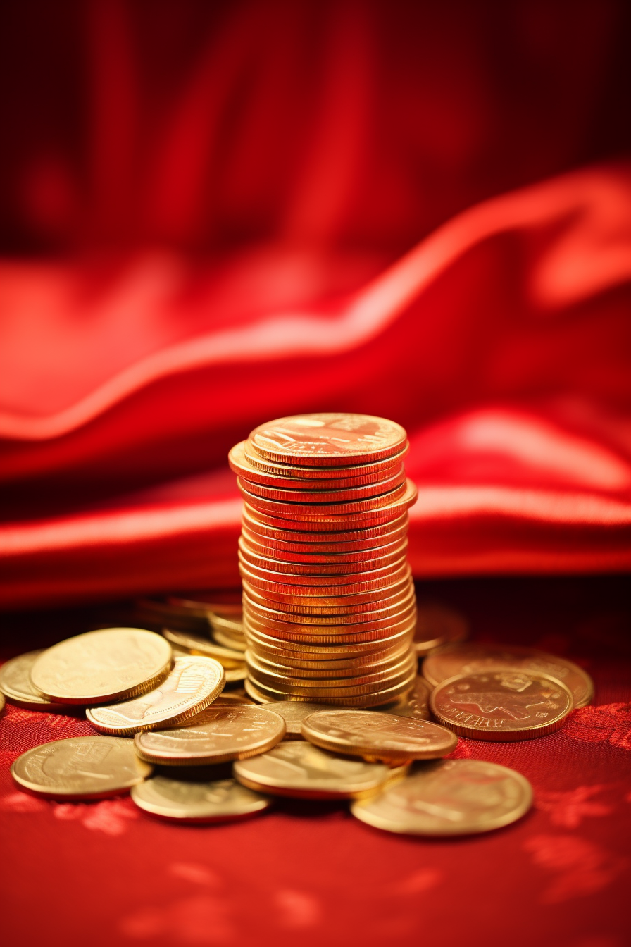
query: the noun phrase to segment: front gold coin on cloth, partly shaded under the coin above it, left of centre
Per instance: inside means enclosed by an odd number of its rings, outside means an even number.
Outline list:
[[[139,809],[179,822],[232,822],[269,809],[272,800],[236,779],[171,779],[154,776],[131,790]]]

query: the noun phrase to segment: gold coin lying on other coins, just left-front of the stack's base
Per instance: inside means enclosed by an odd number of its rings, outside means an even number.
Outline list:
[[[283,718],[260,707],[209,706],[190,726],[137,733],[134,746],[147,762],[200,766],[265,753],[284,735]]]

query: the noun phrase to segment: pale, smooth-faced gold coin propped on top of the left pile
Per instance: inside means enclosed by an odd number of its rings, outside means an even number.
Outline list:
[[[30,671],[33,686],[61,704],[103,704],[147,693],[171,667],[170,645],[139,628],[78,634],[48,648]]]

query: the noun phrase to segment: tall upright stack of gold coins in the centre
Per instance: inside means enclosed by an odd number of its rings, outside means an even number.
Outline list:
[[[394,421],[312,414],[263,424],[230,452],[254,700],[379,706],[412,688],[407,450]]]

